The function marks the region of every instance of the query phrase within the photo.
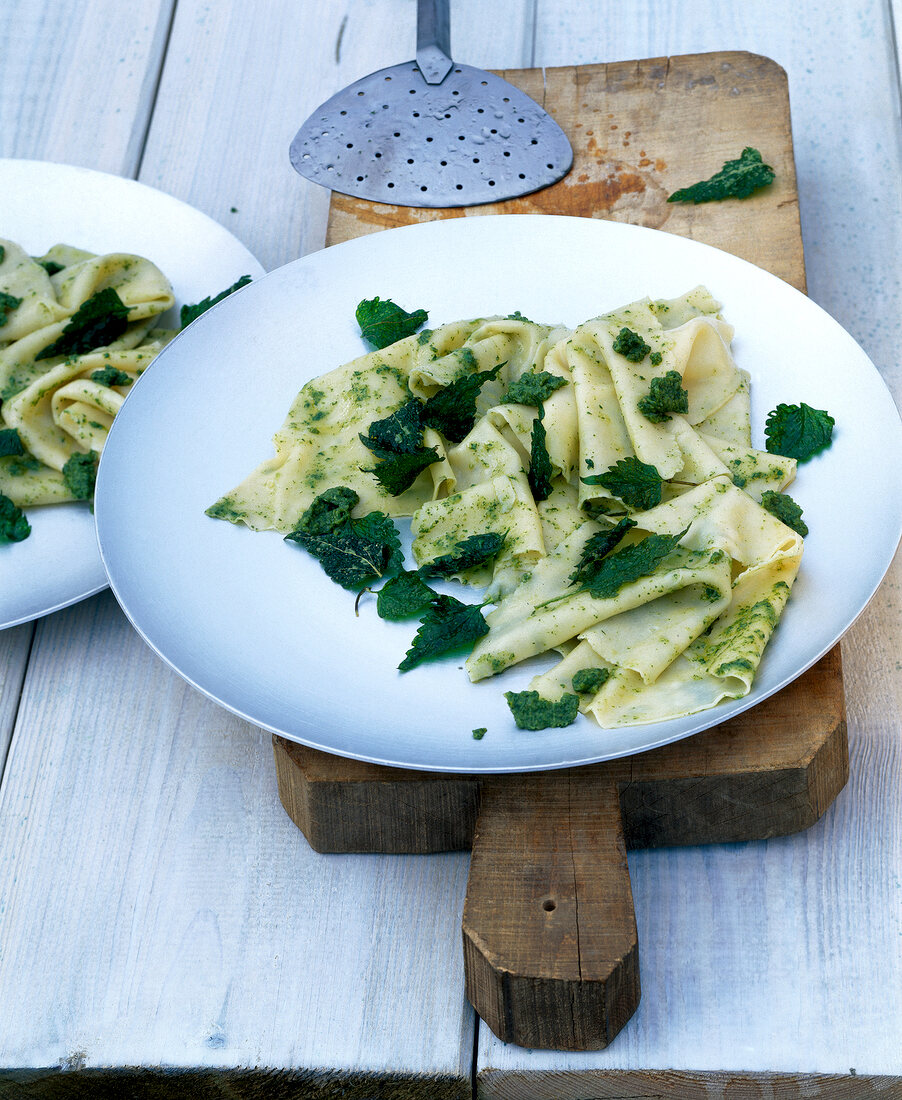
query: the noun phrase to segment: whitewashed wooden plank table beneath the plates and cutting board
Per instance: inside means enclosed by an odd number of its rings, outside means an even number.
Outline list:
[[[414,22],[413,0],[7,0],[0,155],[136,177],[271,268],[324,237],[296,125],[413,56]],[[479,66],[783,65],[810,293],[897,400],[900,30],[900,0],[452,4]],[[582,1055],[479,1026],[465,855],[310,851],[268,735],[183,684],[109,593],[0,634],[0,1098],[127,1094],[122,1070],[130,1096],[902,1097],[901,581],[897,560],[844,641],[851,779],[824,820],[630,855],[642,1002]]]

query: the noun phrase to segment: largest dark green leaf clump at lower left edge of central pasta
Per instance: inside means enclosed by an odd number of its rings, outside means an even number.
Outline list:
[[[400,566],[400,539],[381,512],[351,516],[358,494],[344,485],[321,493],[304,513],[286,541],[312,554],[327,575],[343,588],[361,588]]]

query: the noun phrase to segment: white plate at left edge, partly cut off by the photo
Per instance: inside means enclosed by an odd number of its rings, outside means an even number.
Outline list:
[[[43,255],[59,242],[134,252],[169,278],[176,308],[262,275],[251,253],[212,218],[170,195],[89,168],[0,160],[0,237]],[[82,504],[26,509],[32,532],[0,547],[0,629],[28,623],[107,586],[94,516]]]

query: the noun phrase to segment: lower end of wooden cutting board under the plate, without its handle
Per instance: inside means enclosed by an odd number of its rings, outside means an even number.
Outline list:
[[[617,790],[629,848],[783,836],[818,821],[848,779],[844,714],[834,649],[793,691],[728,723],[582,771],[600,790]],[[424,854],[473,844],[484,777],[344,760],[283,737],[273,749],[282,803],[318,851]],[[516,790],[521,781],[495,784]],[[532,777],[526,782],[531,790]]]

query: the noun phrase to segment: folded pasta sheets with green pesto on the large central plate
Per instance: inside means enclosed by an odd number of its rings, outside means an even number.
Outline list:
[[[360,496],[359,515],[410,517],[420,565],[469,536],[503,535],[493,562],[459,578],[494,603],[488,632],[466,661],[471,680],[536,658],[548,664],[550,656],[553,664],[530,686],[553,702],[578,692],[576,673],[597,670],[596,688],[579,692],[580,710],[603,727],[741,696],[785,606],[802,538],[761,505],[766,491],[792,482],[795,462],[752,446],[749,376],[734,361],[719,309],[696,287],[575,329],[481,318],[408,337],[304,386],[275,454],[209,514],[288,532],[318,494],[345,485]],[[638,341],[636,354],[625,353],[624,330]],[[488,370],[495,376],[465,438],[427,429],[424,446],[440,461],[392,496],[373,476],[361,436],[411,396],[427,400]],[[554,380],[544,399],[506,399],[530,373]],[[644,399],[674,376],[684,406],[646,415]],[[531,469],[537,425],[547,459],[541,493]],[[598,484],[596,475],[624,460],[654,468],[660,503],[637,508]],[[612,557],[642,553],[656,539],[669,538],[669,549],[615,591],[593,594],[578,579],[587,544],[625,519],[628,534]]]

